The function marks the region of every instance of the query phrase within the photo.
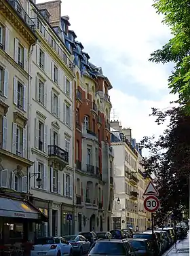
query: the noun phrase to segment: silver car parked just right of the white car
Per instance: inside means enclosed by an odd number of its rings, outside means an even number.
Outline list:
[[[72,245],[73,253],[76,253],[77,255],[83,255],[83,253],[87,253],[90,249],[90,242],[84,236],[64,236],[64,239]]]

